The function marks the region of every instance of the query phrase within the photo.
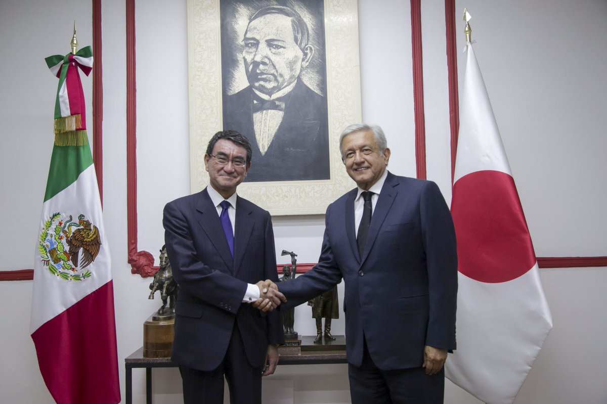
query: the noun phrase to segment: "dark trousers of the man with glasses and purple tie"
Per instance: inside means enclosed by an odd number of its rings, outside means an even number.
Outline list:
[[[228,380],[230,403],[261,404],[262,368],[254,368],[246,358],[238,325],[223,362],[212,371],[179,366],[183,380],[184,404],[223,404],[223,377]]]

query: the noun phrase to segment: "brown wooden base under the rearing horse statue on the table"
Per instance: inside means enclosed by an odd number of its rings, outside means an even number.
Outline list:
[[[143,357],[171,357],[174,335],[175,314],[158,315],[154,312],[143,323]]]

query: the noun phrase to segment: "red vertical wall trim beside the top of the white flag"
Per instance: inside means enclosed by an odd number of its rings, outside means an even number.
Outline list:
[[[457,85],[457,42],[455,36],[455,0],[445,0],[447,32],[447,75],[449,77],[449,126],[451,127],[451,182],[455,174],[455,153],[459,130],[459,95]]]

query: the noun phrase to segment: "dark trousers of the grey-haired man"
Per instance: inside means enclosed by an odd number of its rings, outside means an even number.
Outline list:
[[[429,376],[424,368],[379,369],[364,343],[362,364],[348,364],[352,404],[442,404],[445,391],[444,368]]]

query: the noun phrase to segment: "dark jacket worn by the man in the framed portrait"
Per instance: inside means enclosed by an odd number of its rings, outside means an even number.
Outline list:
[[[253,129],[253,98],[253,90],[246,87],[227,96],[223,106],[223,128],[236,130],[251,142],[253,164],[245,181],[328,180],[327,99],[297,81],[283,97],[285,113],[262,155]]]

